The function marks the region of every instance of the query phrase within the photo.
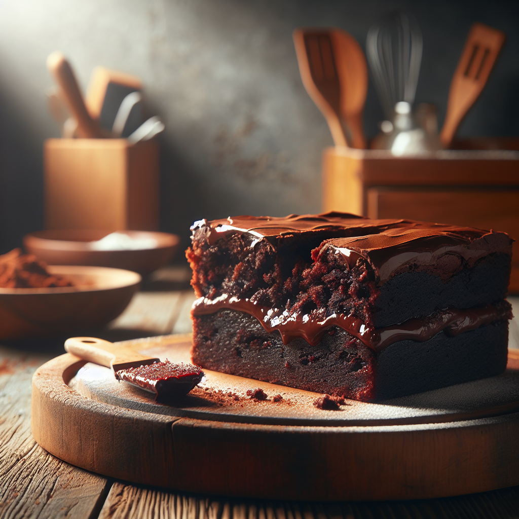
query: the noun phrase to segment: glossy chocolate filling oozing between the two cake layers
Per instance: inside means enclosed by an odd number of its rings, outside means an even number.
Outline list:
[[[376,352],[383,351],[399,340],[425,342],[441,331],[454,337],[459,333],[475,330],[492,322],[506,321],[511,317],[510,305],[502,302],[498,307],[486,305],[468,309],[448,308],[434,312],[430,316],[412,318],[401,324],[374,329],[352,315],[333,313],[326,317],[320,315],[319,310],[307,315],[291,314],[286,310],[262,307],[249,299],[231,297],[227,294],[213,300],[200,297],[193,304],[192,313],[193,316],[201,316],[223,308],[249,313],[261,322],[267,332],[277,330],[285,345],[299,337],[310,345],[317,346],[330,327],[338,326]]]

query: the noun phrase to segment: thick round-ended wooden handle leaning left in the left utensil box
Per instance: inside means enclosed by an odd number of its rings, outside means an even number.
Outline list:
[[[83,95],[72,71],[72,67],[61,52],[52,52],[47,58],[47,69],[63,91],[63,97],[70,113],[77,121],[77,133],[80,137],[100,139],[101,130],[85,106]]]

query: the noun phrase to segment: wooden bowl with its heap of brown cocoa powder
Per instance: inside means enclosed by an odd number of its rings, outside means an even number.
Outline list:
[[[140,282],[129,270],[47,265],[15,249],[0,256],[0,339],[99,328],[122,313]]]

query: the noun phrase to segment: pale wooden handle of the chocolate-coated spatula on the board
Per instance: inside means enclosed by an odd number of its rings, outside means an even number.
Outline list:
[[[128,346],[119,346],[108,340],[95,337],[72,337],[67,339],[65,341],[65,351],[88,362],[112,367],[114,371],[159,362],[158,358],[141,355]]]

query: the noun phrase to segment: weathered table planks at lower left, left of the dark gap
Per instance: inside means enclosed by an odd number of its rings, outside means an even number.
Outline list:
[[[62,462],[31,433],[31,378],[46,357],[0,356],[0,517],[89,517],[106,478]]]

